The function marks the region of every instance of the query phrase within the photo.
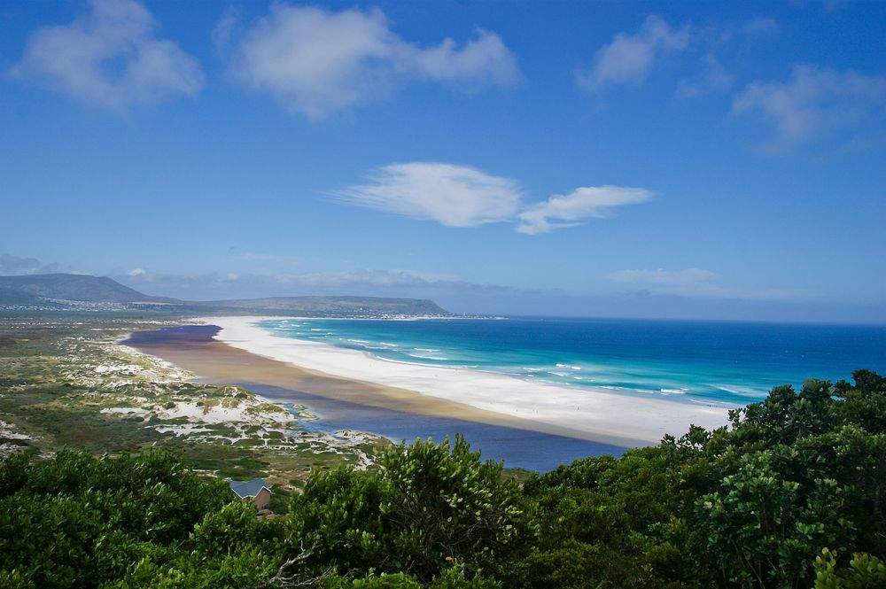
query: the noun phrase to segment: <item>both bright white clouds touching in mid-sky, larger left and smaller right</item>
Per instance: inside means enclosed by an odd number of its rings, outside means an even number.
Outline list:
[[[350,205],[437,221],[445,227],[517,222],[517,231],[530,235],[600,219],[617,206],[652,197],[649,190],[640,188],[589,186],[527,205],[515,180],[439,162],[392,164],[379,168],[369,180],[330,192],[330,196]]]

